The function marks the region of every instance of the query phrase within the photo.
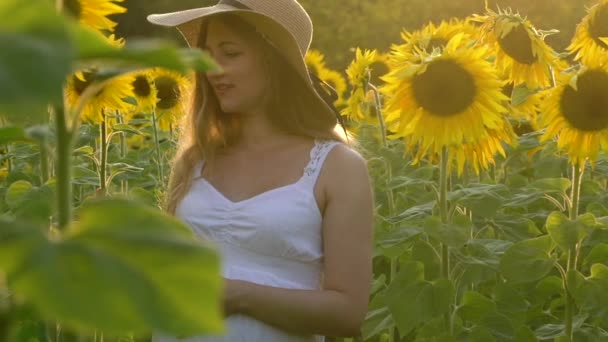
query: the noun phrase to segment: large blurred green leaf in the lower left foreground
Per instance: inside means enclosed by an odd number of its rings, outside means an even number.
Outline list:
[[[182,222],[118,199],[78,217],[7,275],[45,317],[76,331],[222,331],[218,256]]]

